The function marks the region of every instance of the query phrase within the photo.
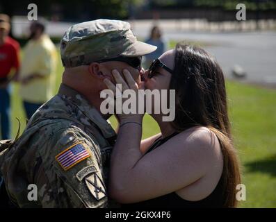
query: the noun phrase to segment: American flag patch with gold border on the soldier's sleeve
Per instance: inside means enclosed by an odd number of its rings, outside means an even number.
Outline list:
[[[78,164],[82,160],[90,157],[90,153],[87,148],[79,143],[70,146],[58,155],[56,155],[56,161],[60,164],[65,171]]]

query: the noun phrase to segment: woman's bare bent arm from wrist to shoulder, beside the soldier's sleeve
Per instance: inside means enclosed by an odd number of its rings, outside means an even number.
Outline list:
[[[203,178],[219,159],[207,130],[180,133],[146,155],[139,149],[140,135],[138,124],[122,126],[111,155],[109,195],[120,203],[182,189]]]

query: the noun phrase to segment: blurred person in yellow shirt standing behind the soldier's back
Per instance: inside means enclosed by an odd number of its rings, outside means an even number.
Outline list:
[[[24,48],[19,93],[26,117],[31,119],[33,113],[53,96],[57,53],[56,46],[44,33],[44,24],[33,22],[29,39]]]

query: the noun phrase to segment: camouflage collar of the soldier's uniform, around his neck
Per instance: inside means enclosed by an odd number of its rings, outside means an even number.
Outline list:
[[[105,138],[110,138],[115,136],[115,131],[111,127],[111,125],[102,117],[99,111],[90,105],[86,98],[75,89],[61,83],[60,88],[58,90],[58,95],[62,96],[66,99],[69,99],[74,105],[81,110],[88,119],[90,119],[93,123],[95,123],[99,130],[102,131],[102,134]]]

